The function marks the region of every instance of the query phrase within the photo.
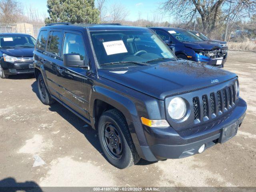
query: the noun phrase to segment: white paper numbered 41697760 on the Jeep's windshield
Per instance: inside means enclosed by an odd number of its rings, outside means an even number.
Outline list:
[[[122,40],[103,42],[103,46],[107,52],[107,55],[127,53],[127,49]]]

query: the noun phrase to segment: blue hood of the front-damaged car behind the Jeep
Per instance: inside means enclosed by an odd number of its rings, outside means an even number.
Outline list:
[[[209,41],[199,41],[199,42],[183,42],[184,45],[192,49],[202,49],[202,50],[214,50],[222,48],[220,44],[209,42]]]

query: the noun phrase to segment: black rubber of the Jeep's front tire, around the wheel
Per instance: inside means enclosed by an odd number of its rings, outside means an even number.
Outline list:
[[[116,129],[118,129],[118,131],[120,132],[121,136],[122,136],[122,140],[123,140],[123,154],[122,157],[118,160],[115,160],[114,158],[112,158],[112,156],[110,156],[108,154],[108,152],[106,152],[106,149],[103,142],[104,141],[104,135],[102,135],[102,129],[104,129],[104,125],[105,122],[111,122],[112,124],[114,124],[114,126],[116,127]],[[99,123],[98,123],[98,135],[99,135],[99,140],[100,140],[100,145],[102,147],[102,150],[105,154],[105,156],[107,157],[108,161],[113,164],[114,166],[116,166],[117,168],[123,169],[126,168],[129,164],[130,164],[130,159],[132,156],[132,152],[130,150],[130,147],[126,141],[126,136],[124,135],[122,128],[120,127],[120,123],[118,123],[118,119],[115,118],[115,116],[113,116],[112,114],[109,114],[109,116],[106,115],[102,115],[100,117]],[[104,132],[104,131],[103,131]]]

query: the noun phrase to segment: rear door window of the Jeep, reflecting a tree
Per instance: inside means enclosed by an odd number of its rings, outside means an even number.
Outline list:
[[[60,52],[60,44],[62,42],[62,32],[60,31],[51,31],[48,41],[46,51],[52,54],[58,55]]]

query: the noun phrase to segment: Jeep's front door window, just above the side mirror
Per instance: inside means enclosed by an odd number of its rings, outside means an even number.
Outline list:
[[[65,34],[62,56],[67,53],[80,54],[81,60],[84,60],[85,50],[82,35],[74,33]]]

